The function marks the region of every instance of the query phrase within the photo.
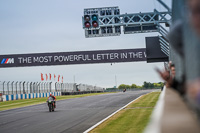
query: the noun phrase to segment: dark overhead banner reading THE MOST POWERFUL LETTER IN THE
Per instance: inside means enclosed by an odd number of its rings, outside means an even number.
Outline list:
[[[0,67],[146,61],[146,48],[0,55]]]

